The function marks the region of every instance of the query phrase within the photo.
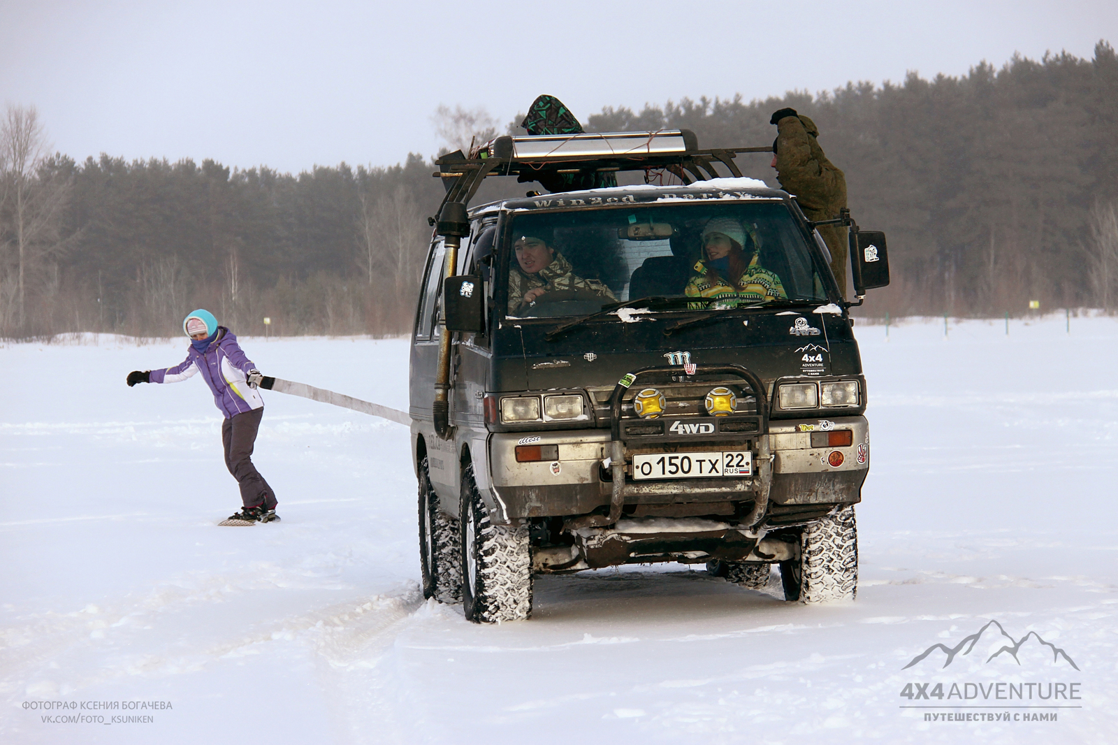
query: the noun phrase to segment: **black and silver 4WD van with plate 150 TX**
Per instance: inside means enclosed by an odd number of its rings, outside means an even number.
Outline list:
[[[686,131],[499,138],[447,195],[410,356],[424,594],[527,619],[532,577],[703,563],[853,597],[869,426],[851,305],[889,282],[847,214],[856,300],[796,198]],[[676,186],[608,183],[618,171]],[[726,176],[726,172],[729,176]],[[490,176],[565,183],[468,208]],[[580,188],[588,187],[588,188]]]

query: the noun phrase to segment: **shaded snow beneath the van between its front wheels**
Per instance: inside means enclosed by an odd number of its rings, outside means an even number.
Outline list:
[[[701,565],[694,570],[629,567],[542,575],[534,581],[531,623],[612,620],[618,613],[641,622],[740,621],[798,605],[785,603],[779,587],[776,574],[766,590],[754,591],[714,577]]]

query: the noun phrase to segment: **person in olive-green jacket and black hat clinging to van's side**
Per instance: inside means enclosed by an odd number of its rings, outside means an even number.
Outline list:
[[[796,196],[799,208],[809,220],[831,220],[846,206],[846,177],[827,160],[819,147],[819,130],[795,109],[781,109],[773,114],[776,124],[773,141],[773,168],[780,188]],[[846,228],[821,225],[819,235],[831,251],[831,271],[846,296]]]

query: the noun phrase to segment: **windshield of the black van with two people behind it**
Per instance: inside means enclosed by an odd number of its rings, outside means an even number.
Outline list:
[[[509,315],[581,315],[657,295],[692,310],[826,301],[783,202],[521,214],[510,235]]]

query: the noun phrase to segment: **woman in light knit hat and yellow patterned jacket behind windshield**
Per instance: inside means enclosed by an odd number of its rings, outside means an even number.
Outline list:
[[[743,246],[749,246],[746,258]],[[717,217],[702,230],[702,258],[692,267],[683,294],[730,301],[730,304],[760,303],[787,298],[784,285],[773,272],[760,265],[760,242],[751,226],[730,217]],[[688,303],[689,308],[709,308],[711,302]]]

